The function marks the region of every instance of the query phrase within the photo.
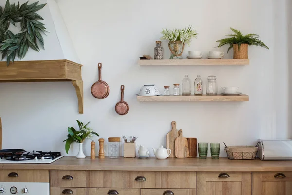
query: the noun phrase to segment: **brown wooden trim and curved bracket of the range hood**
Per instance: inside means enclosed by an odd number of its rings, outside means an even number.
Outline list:
[[[83,81],[81,64],[69,60],[15,61],[8,67],[0,62],[0,82],[72,82],[83,113]]]

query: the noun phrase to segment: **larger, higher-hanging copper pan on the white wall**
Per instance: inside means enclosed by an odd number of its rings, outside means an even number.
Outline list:
[[[98,63],[98,81],[91,86],[91,94],[98,99],[107,98],[110,94],[109,85],[101,80],[101,63]]]

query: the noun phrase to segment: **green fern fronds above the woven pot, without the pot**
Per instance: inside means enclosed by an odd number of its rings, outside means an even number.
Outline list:
[[[230,28],[230,29],[235,34],[226,35],[226,36],[231,36],[231,37],[216,41],[216,42],[220,42],[217,47],[222,47],[223,45],[230,44],[230,46],[227,50],[227,53],[231,48],[233,48],[233,44],[238,44],[238,50],[240,50],[241,44],[256,45],[256,46],[261,46],[263,48],[269,49],[269,47],[267,47],[267,45],[265,45],[265,43],[263,43],[262,41],[257,39],[257,38],[259,38],[259,35],[256,35],[253,33],[243,35],[241,33],[241,31],[239,31],[239,30],[236,30],[234,28]]]

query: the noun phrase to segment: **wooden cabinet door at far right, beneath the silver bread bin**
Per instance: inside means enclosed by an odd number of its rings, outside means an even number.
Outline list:
[[[292,172],[253,172],[253,195],[292,195]]]

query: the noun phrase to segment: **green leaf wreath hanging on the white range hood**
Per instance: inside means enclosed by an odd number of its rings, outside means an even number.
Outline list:
[[[44,20],[36,12],[41,10],[46,4],[38,5],[38,2],[28,5],[26,3],[20,6],[6,1],[5,8],[0,6],[0,52],[2,52],[1,61],[7,57],[7,66],[10,61],[14,62],[15,57],[23,58],[28,49],[32,48],[39,51],[38,44],[44,49],[44,39],[42,34],[46,31],[45,25],[38,20]],[[8,30],[10,24],[20,22],[21,32],[13,34]]]

